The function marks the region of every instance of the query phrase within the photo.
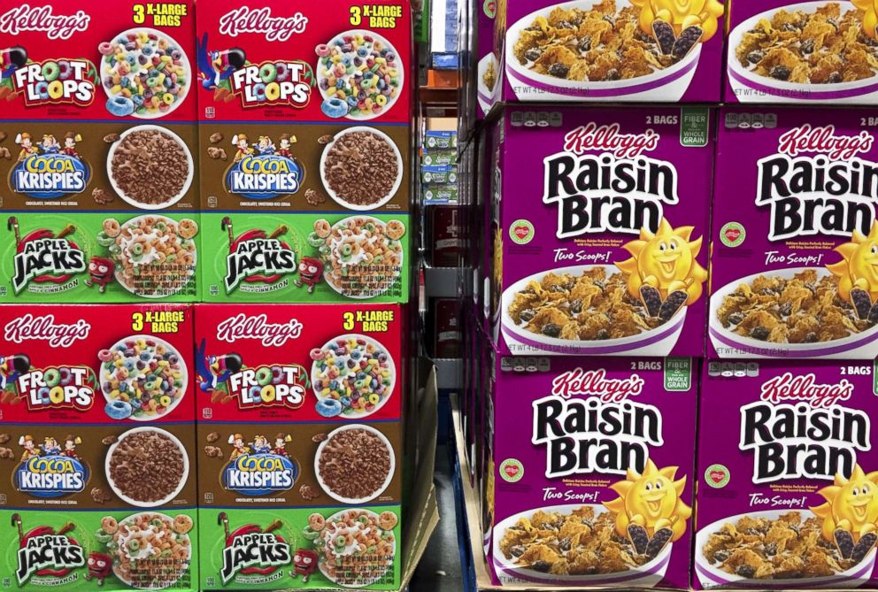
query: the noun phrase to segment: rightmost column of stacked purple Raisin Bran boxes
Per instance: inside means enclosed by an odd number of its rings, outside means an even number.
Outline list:
[[[729,14],[695,588],[878,577],[878,17],[787,4]]]

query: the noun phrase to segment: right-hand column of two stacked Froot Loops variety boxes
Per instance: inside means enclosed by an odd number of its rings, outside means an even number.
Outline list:
[[[410,28],[198,6],[203,589],[400,586]]]

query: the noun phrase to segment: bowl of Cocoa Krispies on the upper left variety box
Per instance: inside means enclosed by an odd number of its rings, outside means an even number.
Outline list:
[[[192,185],[192,153],[166,127],[130,127],[112,143],[107,177],[114,191],[139,210],[163,210],[179,202]]]

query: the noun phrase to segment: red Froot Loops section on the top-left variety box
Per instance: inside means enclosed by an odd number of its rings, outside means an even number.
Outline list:
[[[38,0],[0,10],[4,119],[196,120],[192,0]]]

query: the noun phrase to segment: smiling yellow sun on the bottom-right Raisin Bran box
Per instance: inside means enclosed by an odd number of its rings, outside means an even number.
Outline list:
[[[864,473],[854,465],[850,479],[836,473],[835,483],[818,493],[826,504],[811,511],[823,519],[823,538],[835,542],[846,559],[866,557],[878,542],[878,472]]]

